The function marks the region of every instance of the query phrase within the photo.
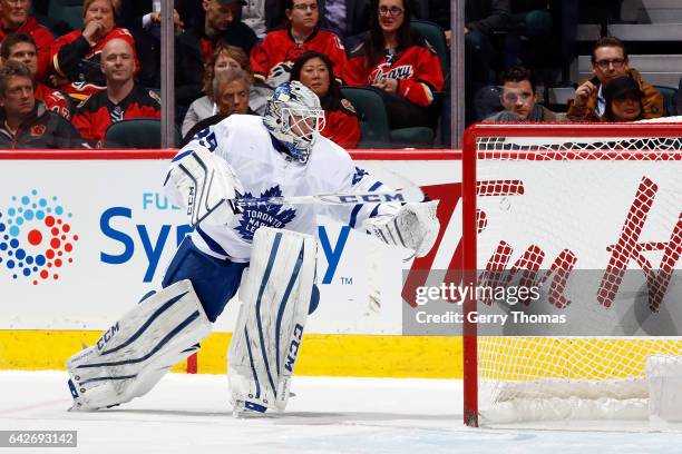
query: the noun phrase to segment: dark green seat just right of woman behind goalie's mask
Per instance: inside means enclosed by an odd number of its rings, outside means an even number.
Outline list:
[[[371,87],[341,87],[360,117],[359,148],[419,148],[433,144],[433,131],[426,127],[390,129],[381,93]]]

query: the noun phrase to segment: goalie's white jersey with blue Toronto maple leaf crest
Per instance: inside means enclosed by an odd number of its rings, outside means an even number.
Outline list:
[[[324,137],[316,138],[306,165],[288,159],[277,151],[273,140],[261,117],[232,115],[195,136],[174,161],[182,162],[193,147],[207,148],[230,165],[242,185],[244,198],[388,190],[381,181],[355,167],[344,149]],[[174,203],[186,205],[172,182],[166,181],[164,188]],[[318,214],[360,227],[366,219],[393,214],[398,208],[393,204],[250,206],[243,207],[226,227],[199,223],[192,240],[208,255],[249,261],[253,235],[261,226],[316,236]]]

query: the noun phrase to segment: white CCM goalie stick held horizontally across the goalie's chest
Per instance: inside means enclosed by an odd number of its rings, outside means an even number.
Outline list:
[[[291,196],[291,197],[252,197],[237,198],[234,204],[237,207],[254,205],[300,205],[300,204],[324,204],[324,205],[361,205],[361,204],[386,204],[386,203],[417,203],[423,201],[425,196],[418,186],[405,189],[393,189],[381,193],[360,194],[319,194],[315,196]]]

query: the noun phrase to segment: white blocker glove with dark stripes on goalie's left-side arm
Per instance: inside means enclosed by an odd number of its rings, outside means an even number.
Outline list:
[[[243,193],[232,168],[207,148],[193,145],[181,159],[175,158],[168,179],[179,193],[193,226],[207,219],[211,224],[226,225],[240,209],[234,199]]]

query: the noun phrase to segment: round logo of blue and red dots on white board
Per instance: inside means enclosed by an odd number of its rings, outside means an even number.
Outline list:
[[[0,209],[0,269],[12,279],[29,279],[33,285],[59,279],[64,266],[74,261],[78,235],[72,231],[71,214],[58,197],[12,196],[9,207]]]

